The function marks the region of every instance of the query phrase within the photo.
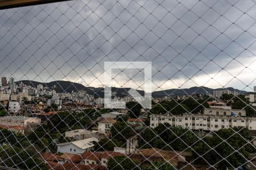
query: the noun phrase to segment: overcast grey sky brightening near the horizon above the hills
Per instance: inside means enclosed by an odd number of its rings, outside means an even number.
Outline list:
[[[254,2],[245,0],[79,0],[1,10],[0,76],[102,87],[105,61],[151,61],[153,91],[253,91],[255,19]],[[143,71],[135,73],[124,70],[112,83],[140,89]]]

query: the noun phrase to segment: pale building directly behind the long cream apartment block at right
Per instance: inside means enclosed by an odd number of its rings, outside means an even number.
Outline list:
[[[223,108],[204,108],[205,115],[220,115],[220,116],[246,116],[245,109],[223,109]]]

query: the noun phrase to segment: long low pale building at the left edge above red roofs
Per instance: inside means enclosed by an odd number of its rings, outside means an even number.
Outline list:
[[[24,116],[5,116],[0,118],[0,125],[20,126],[27,128],[28,124],[40,124],[41,119],[36,117]]]

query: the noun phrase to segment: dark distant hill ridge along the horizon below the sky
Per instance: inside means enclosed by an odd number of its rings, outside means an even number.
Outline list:
[[[36,81],[30,81],[30,80],[20,80],[16,83],[24,83],[27,86],[31,87],[37,87],[38,84],[43,84],[44,87],[49,87],[50,89],[54,89],[56,92],[77,92],[84,90],[90,95],[94,95],[94,97],[104,97],[104,88],[103,87],[86,87],[80,83],[70,82],[70,81],[64,81],[64,80],[57,80],[53,82],[48,83],[42,83],[42,82],[36,82]],[[167,95],[171,96],[183,96],[183,95],[192,95],[192,94],[213,94],[213,91],[215,90],[229,90],[229,91],[237,91],[239,94],[245,94],[246,91],[241,91],[238,89],[235,89],[233,87],[228,88],[208,88],[208,87],[191,87],[191,88],[173,88],[169,90],[162,90],[162,91],[155,91],[152,92],[152,97],[164,97]],[[112,87],[112,91],[116,92],[116,96],[118,97],[125,97],[128,95],[128,92],[130,88],[118,88],[118,87]],[[139,91],[139,94],[143,95],[144,91]]]

